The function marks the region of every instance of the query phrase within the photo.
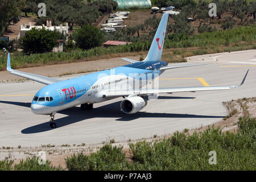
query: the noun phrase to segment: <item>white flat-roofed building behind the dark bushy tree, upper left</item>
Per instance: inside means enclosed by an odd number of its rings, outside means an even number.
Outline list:
[[[42,29],[43,27],[46,28],[46,30],[51,30],[51,31],[59,31],[59,32],[63,32],[64,35],[68,34],[68,23],[66,23],[66,26],[63,26],[62,24],[60,24],[60,26],[52,26],[52,21],[50,19],[46,20],[46,26],[43,24],[43,26],[31,26],[30,24],[23,24],[20,26],[20,30],[19,30],[19,37],[18,38],[22,38],[23,36],[25,36],[26,31],[31,30],[31,28],[37,28],[37,29]]]

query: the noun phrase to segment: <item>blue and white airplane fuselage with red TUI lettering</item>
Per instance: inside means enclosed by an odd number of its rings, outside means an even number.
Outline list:
[[[35,94],[31,110],[35,114],[51,114],[85,103],[109,100],[104,91],[109,89],[141,88],[154,80],[167,65],[164,61],[137,62],[89,75],[71,78],[44,86]],[[138,84],[134,84],[137,80]]]

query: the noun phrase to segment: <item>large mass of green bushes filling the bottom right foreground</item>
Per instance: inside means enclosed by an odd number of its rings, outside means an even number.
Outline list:
[[[208,128],[189,136],[177,132],[168,139],[130,144],[132,169],[255,170],[256,118],[240,119],[238,126],[238,134]],[[208,163],[209,151],[216,151],[216,165]]]

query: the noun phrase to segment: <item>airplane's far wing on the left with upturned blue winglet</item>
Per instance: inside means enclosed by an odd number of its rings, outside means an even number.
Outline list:
[[[61,81],[61,80],[57,80],[55,78],[50,78],[50,77],[41,76],[41,75],[35,75],[32,73],[26,73],[26,72],[21,72],[21,71],[15,70],[15,69],[11,69],[10,53],[8,53],[7,71],[9,71],[13,75],[27,78],[27,79],[30,79],[30,80],[33,80],[36,82],[40,82],[42,84],[46,84],[46,85]]]

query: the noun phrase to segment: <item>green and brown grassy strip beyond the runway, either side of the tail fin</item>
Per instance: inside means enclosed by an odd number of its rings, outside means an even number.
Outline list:
[[[227,43],[228,40],[228,43]],[[173,49],[170,55],[164,55],[163,60],[169,63],[186,61],[184,57],[193,55],[203,55],[205,53],[241,51],[245,49],[255,49],[256,26],[237,27],[225,31],[203,33],[188,36],[184,40],[170,40],[166,38],[164,51]],[[73,52],[42,53],[33,55],[11,55],[11,67],[27,68],[50,64],[73,63],[77,61],[96,60],[105,57],[119,57],[129,55],[131,52],[141,52],[146,54],[151,43],[137,42],[125,46],[97,47],[89,50],[76,50]],[[194,50],[187,52],[187,49]],[[140,53],[140,54],[141,54]],[[165,56],[165,57],[164,57]],[[141,57],[142,59],[143,57]],[[0,56],[0,71],[6,70],[6,55]]]

